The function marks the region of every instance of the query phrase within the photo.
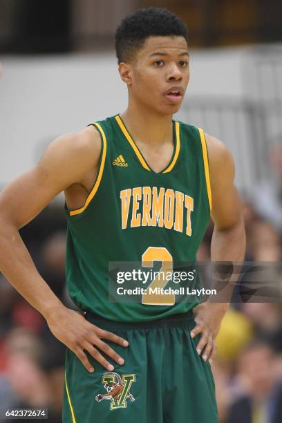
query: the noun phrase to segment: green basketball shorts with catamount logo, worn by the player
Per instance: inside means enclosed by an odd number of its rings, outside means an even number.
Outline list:
[[[125,363],[107,371],[90,355],[89,373],[67,350],[64,423],[218,423],[214,378],[198,355],[199,335],[192,312],[148,323],[87,317],[95,325],[129,341],[109,342]]]

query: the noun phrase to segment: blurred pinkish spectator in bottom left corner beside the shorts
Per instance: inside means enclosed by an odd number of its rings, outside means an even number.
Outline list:
[[[0,408],[48,408],[48,421],[59,423],[64,368],[57,372],[59,382],[55,373],[46,373],[42,366],[44,345],[27,329],[11,330],[4,351],[6,369],[0,373]]]

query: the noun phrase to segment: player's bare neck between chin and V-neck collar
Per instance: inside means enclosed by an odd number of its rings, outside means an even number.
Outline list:
[[[172,115],[155,114],[129,104],[126,111],[121,113],[121,118],[135,142],[162,145],[173,140]]]

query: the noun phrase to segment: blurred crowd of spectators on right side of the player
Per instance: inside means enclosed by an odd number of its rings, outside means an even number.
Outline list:
[[[270,160],[272,180],[241,193],[245,263],[257,265],[259,272],[239,278],[236,290],[245,286],[247,295],[233,299],[216,339],[212,368],[220,423],[282,422],[282,143],[272,148]],[[212,225],[200,261],[210,259],[211,239]]]

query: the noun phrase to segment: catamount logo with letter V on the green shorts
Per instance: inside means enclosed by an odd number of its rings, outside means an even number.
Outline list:
[[[100,402],[102,400],[111,400],[111,410],[115,408],[126,408],[126,400],[129,398],[131,402],[135,401],[135,398],[130,393],[132,382],[135,382],[135,373],[130,375],[119,375],[115,372],[106,372],[102,376],[102,384],[106,389],[106,393],[98,394],[95,396],[95,400]]]

